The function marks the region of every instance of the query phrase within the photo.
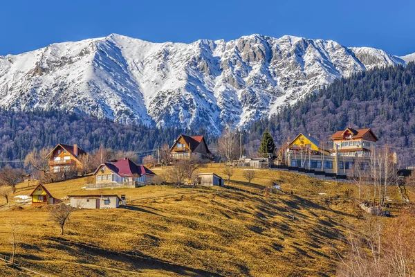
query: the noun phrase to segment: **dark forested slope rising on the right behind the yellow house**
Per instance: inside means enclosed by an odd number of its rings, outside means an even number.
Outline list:
[[[256,139],[268,129],[279,145],[299,132],[328,141],[349,126],[374,130],[379,145],[391,145],[401,166],[415,163],[415,64],[362,71],[252,125]]]

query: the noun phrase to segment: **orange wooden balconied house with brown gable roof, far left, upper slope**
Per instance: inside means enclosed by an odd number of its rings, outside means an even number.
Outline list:
[[[78,145],[67,145],[59,143],[46,156],[49,159],[50,172],[68,172],[82,168],[80,157],[86,152]]]

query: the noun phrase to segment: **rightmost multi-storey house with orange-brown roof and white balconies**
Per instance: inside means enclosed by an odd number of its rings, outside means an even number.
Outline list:
[[[376,145],[378,137],[371,129],[346,128],[335,132],[330,139],[333,141],[331,155],[368,157],[371,147]]]

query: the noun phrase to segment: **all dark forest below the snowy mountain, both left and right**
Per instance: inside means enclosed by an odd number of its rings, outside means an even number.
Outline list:
[[[415,164],[415,64],[388,66],[356,73],[350,78],[306,96],[285,107],[270,119],[258,120],[243,135],[245,149],[259,149],[262,133],[268,130],[276,146],[299,132],[312,134],[322,142],[346,127],[371,128],[378,145],[391,145],[400,166]],[[103,144],[114,150],[152,150],[179,134],[200,134],[208,143],[216,138],[205,129],[189,131],[145,125],[122,125],[65,111],[0,111],[0,159],[23,160],[33,148],[57,143],[77,143],[91,151]],[[255,147],[252,143],[257,143]],[[148,154],[148,153],[147,153]],[[2,163],[4,165],[4,163]]]

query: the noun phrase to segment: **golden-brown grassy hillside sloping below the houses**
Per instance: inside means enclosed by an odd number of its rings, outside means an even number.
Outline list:
[[[269,170],[258,170],[248,186],[242,174],[237,169],[232,177],[236,191],[84,190],[86,178],[48,184],[55,197],[102,192],[133,201],[128,208],[75,211],[64,236],[48,220],[48,206],[0,207],[0,256],[10,253],[8,221],[14,218],[25,226],[17,260],[56,276],[333,276],[335,249],[346,247],[340,235],[358,224],[361,211],[347,199],[318,193],[344,195],[353,186]],[[270,180],[288,193],[264,195]],[[31,189],[21,184],[15,195]]]

